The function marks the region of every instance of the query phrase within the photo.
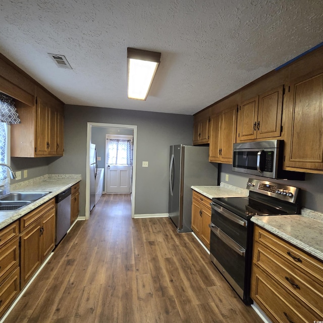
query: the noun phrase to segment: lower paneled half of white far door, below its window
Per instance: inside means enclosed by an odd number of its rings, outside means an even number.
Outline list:
[[[106,166],[106,193],[130,193],[129,165]]]

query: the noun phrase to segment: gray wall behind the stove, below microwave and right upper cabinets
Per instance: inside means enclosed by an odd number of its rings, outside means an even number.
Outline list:
[[[226,174],[229,175],[229,181],[226,182]],[[219,164],[220,182],[228,183],[241,188],[246,188],[247,179],[261,177],[245,175],[242,173],[232,172],[231,165]],[[283,181],[273,180],[275,183],[283,183],[295,186],[301,189],[301,207],[306,207],[314,211],[323,212],[323,175],[305,174],[305,181]]]

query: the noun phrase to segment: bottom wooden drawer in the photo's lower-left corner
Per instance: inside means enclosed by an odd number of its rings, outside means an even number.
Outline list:
[[[20,292],[19,270],[18,267],[0,286],[0,316],[6,312]]]

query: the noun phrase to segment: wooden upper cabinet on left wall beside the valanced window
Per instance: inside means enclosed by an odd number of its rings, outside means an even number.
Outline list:
[[[34,106],[17,101],[21,124],[11,127],[13,157],[62,156],[64,153],[63,105],[36,88]]]

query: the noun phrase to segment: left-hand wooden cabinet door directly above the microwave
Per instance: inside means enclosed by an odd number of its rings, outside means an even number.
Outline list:
[[[242,102],[239,109],[237,141],[255,139],[257,136],[258,96]]]

